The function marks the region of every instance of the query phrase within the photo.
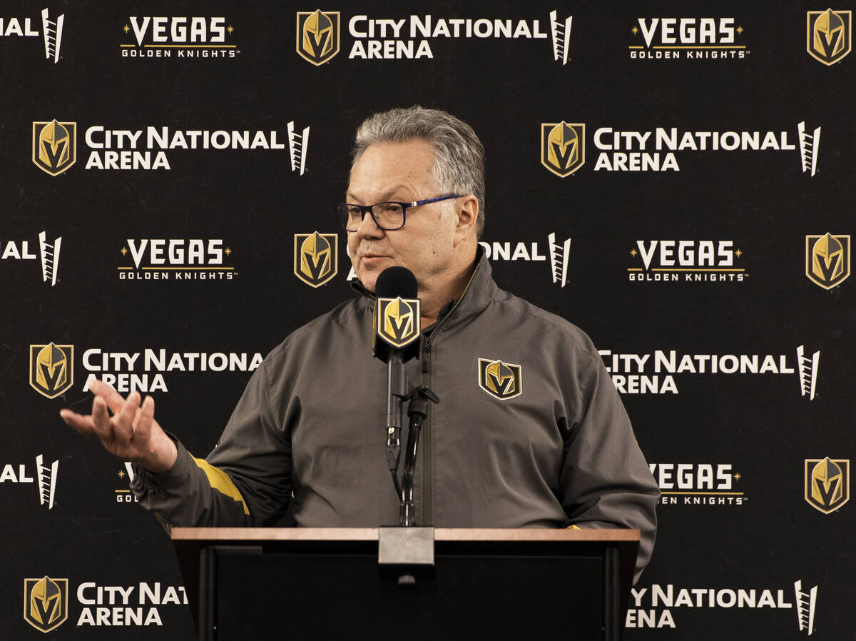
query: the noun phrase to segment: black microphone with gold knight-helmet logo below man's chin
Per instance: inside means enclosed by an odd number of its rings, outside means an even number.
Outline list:
[[[407,267],[387,267],[377,276],[372,317],[372,354],[387,364],[386,458],[401,495],[398,461],[401,457],[401,404],[407,397],[404,363],[419,352],[421,310],[416,277]]]

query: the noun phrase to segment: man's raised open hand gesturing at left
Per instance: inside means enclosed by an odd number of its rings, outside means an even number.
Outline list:
[[[80,434],[94,434],[108,452],[146,470],[163,472],[172,467],[178,451],[154,419],[155,402],[151,396],[140,405],[140,392],[122,398],[101,380],[93,380],[89,389],[95,394],[92,414],[60,410],[63,421]]]

